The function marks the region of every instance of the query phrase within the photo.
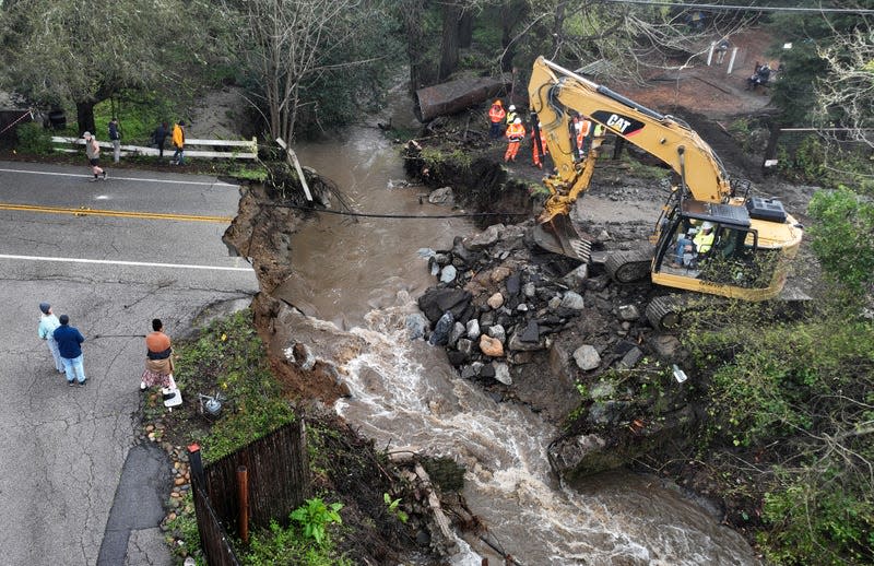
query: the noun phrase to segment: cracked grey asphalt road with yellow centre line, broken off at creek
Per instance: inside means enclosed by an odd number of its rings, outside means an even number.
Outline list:
[[[257,291],[221,240],[238,187],[107,169],[91,182],[85,166],[0,162],[4,565],[170,564],[156,529],[168,463],[135,440],[145,346],[108,335],[161,318],[173,338],[206,305]],[[37,338],[44,300],[86,339],[84,388],[67,386]]]

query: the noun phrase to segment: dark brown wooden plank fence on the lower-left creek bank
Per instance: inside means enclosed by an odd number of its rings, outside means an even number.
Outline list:
[[[194,495],[201,546],[209,564],[235,564],[224,551],[227,534],[239,534],[237,470],[248,475],[248,519],[255,527],[271,521],[288,524],[288,515],[311,496],[311,475],[303,418],[290,423],[206,468],[200,465],[199,448],[189,448],[191,488]],[[201,498],[198,507],[198,498]],[[233,554],[233,551],[231,552]],[[236,559],[236,558],[234,558]],[[214,562],[215,561],[215,562]]]

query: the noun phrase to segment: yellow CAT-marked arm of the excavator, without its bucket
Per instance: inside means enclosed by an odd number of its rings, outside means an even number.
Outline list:
[[[659,114],[610,89],[538,58],[529,82],[531,108],[546,137],[556,174],[544,180],[550,198],[541,223],[567,215],[589,188],[597,158],[593,144],[586,158],[575,160],[570,125],[578,113],[670,166],[695,200],[727,202],[731,186],[719,158],[688,126]]]

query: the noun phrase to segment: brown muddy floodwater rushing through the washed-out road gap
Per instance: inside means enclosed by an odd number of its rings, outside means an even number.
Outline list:
[[[395,187],[404,179],[398,146],[376,128],[295,149],[356,211],[450,212],[427,199],[420,204],[424,188]],[[466,535],[452,564],[503,564],[495,546],[525,566],[757,564],[713,510],[656,477],[616,471],[576,490],[559,485],[546,458],[559,435],[554,426],[525,406],[495,402],[458,376],[441,347],[406,338],[406,315],[435,283],[418,248],[449,248],[473,229],[463,219],[319,215],[294,235],[294,274],[274,292],[318,319],[295,329],[300,342],[311,333],[314,343],[329,335],[364,344],[333,361],[352,391],[335,409],[356,429],[390,451],[450,456],[465,467],[463,495],[492,544]]]

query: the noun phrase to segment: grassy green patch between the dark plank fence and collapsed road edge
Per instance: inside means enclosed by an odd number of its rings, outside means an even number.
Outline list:
[[[209,384],[206,391],[214,390],[228,400],[210,433],[192,438],[200,441],[205,461],[215,461],[295,420],[270,370],[250,310],[214,321],[196,342],[178,346],[176,354],[180,389]],[[198,392],[205,391],[189,394]]]

